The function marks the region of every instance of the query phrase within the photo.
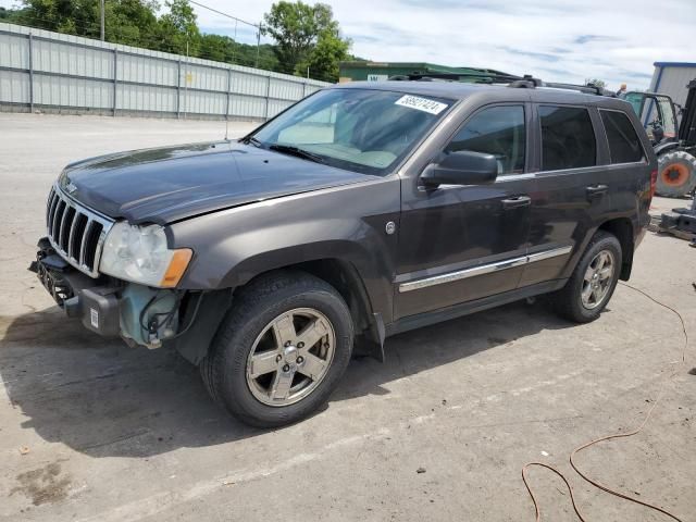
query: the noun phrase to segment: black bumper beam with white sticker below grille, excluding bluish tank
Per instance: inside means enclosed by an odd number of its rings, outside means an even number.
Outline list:
[[[104,278],[95,279],[78,272],[63,260],[48,238],[41,238],[36,261],[29,270],[70,318],[104,337],[121,333],[117,293],[121,286]]]

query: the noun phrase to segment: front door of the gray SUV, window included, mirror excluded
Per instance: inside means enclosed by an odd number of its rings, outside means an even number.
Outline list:
[[[529,112],[524,103],[484,107],[442,151],[496,156],[495,183],[414,190],[403,179],[396,319],[517,288],[530,216]]]

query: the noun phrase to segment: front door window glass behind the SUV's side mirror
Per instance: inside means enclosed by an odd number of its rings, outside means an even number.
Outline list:
[[[445,152],[471,150],[493,154],[498,175],[524,172],[526,129],[523,105],[497,105],[474,114],[459,129]]]

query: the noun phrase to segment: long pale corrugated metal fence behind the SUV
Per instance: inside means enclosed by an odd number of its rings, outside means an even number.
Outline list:
[[[330,84],[0,24],[0,105],[265,120]]]

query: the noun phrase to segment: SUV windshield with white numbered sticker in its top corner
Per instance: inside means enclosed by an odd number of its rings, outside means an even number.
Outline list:
[[[247,139],[279,153],[385,175],[451,104],[451,100],[403,92],[327,89],[300,101]]]

